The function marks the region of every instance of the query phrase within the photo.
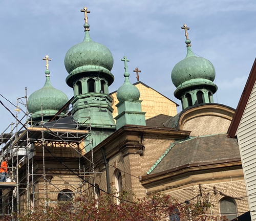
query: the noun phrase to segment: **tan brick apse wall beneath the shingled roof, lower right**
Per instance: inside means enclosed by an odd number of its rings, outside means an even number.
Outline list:
[[[223,198],[225,195],[233,197],[234,201],[236,201],[238,215],[249,211],[244,180],[231,181],[230,179],[229,182],[203,184],[201,185],[201,192],[202,196],[198,196],[190,202],[197,203],[200,200],[201,202],[206,202],[206,200],[208,201],[209,193],[210,203],[214,205],[213,207],[211,207],[212,213],[215,216],[220,214],[219,202],[221,198]],[[200,188],[199,185],[190,186],[186,188],[181,188],[179,190],[166,191],[166,193],[175,197],[177,200],[179,200],[180,203],[183,203],[200,194]],[[210,214],[210,210],[208,210],[207,213]]]

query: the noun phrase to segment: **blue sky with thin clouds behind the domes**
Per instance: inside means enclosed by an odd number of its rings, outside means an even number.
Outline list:
[[[92,39],[108,47],[114,57],[110,92],[124,81],[120,59],[125,55],[130,59],[131,82],[136,82],[133,70],[138,67],[141,81],[180,103],[173,96],[170,73],[186,55],[181,29],[186,23],[193,51],[215,66],[215,102],[236,108],[255,58],[254,0],[1,1],[0,94],[15,103],[24,96],[25,87],[28,95],[40,89],[45,83],[42,58],[48,54],[53,86],[73,96],[65,82],[64,57],[83,39],[80,9],[84,6],[91,11]],[[13,106],[0,100],[14,112]],[[15,119],[3,106],[0,113],[3,131]]]

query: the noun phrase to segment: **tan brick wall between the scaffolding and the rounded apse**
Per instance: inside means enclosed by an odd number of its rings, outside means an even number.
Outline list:
[[[111,158],[109,161],[111,191],[115,190],[115,172],[119,169],[122,174],[123,189],[133,190],[137,196],[143,197],[146,190],[141,185],[139,176],[145,174],[147,170],[155,164],[172,142],[174,142],[174,139],[144,136],[142,140],[145,147],[143,156],[139,154],[129,154],[123,157],[123,154],[119,152],[115,157]],[[98,172],[100,169],[96,168],[96,171]],[[106,191],[104,166],[102,166],[102,173],[96,175],[96,183],[101,189]]]

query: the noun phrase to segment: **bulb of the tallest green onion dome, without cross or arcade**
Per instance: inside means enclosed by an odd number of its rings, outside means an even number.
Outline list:
[[[88,23],[84,24],[84,28],[89,29],[89,27]],[[83,67],[81,69],[83,72],[87,69],[87,65],[90,69],[94,67],[95,71],[98,71],[99,67],[111,71],[113,63],[111,51],[104,45],[94,42],[89,30],[86,30],[83,41],[71,47],[65,56],[65,68],[69,74],[72,74],[73,70],[79,71],[77,69],[79,67]]]

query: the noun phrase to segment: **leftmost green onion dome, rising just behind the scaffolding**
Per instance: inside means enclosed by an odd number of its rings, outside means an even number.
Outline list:
[[[45,85],[40,90],[32,93],[28,98],[29,113],[41,113],[42,105],[42,110],[45,114],[54,115],[69,101],[66,94],[52,86],[50,82],[50,71],[46,70],[45,74]]]

